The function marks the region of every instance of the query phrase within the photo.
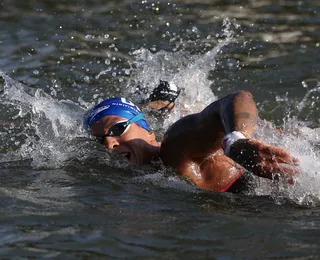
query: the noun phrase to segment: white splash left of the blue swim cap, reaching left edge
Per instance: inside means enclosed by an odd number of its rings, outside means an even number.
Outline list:
[[[17,114],[8,120],[22,120],[23,144],[11,153],[20,159],[32,159],[35,168],[56,168],[74,155],[70,145],[83,136],[84,110],[70,100],[58,101],[40,89],[31,89],[0,71],[5,81],[2,104],[13,106]]]

